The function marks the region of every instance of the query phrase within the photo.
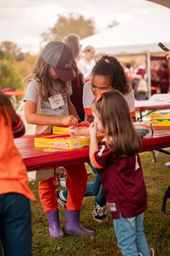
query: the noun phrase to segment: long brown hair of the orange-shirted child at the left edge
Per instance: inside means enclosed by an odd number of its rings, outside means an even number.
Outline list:
[[[8,96],[0,92],[0,114],[3,115],[5,124],[9,124],[7,113],[11,116],[12,122],[17,122],[16,116],[13,115],[14,109]]]

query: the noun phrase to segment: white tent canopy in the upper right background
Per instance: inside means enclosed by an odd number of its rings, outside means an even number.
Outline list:
[[[158,42],[170,49],[169,24],[170,9],[158,5],[152,12],[84,38],[81,44],[106,54],[161,52]]]

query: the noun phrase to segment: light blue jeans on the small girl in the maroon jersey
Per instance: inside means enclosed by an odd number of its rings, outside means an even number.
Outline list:
[[[113,220],[118,247],[122,250],[123,256],[150,256],[146,236],[143,232],[143,214],[133,218],[125,219],[120,214],[119,219]]]

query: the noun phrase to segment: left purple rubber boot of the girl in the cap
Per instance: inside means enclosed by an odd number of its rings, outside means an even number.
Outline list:
[[[61,238],[64,237],[64,233],[60,228],[60,221],[59,221],[59,210],[49,211],[46,212],[46,216],[48,218],[48,231],[50,237]]]

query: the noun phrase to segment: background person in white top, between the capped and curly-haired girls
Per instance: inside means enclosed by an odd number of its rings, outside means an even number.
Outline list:
[[[95,48],[89,45],[85,47],[83,54],[83,58],[78,61],[77,65],[87,82],[91,79],[91,72],[96,63],[94,61]]]

